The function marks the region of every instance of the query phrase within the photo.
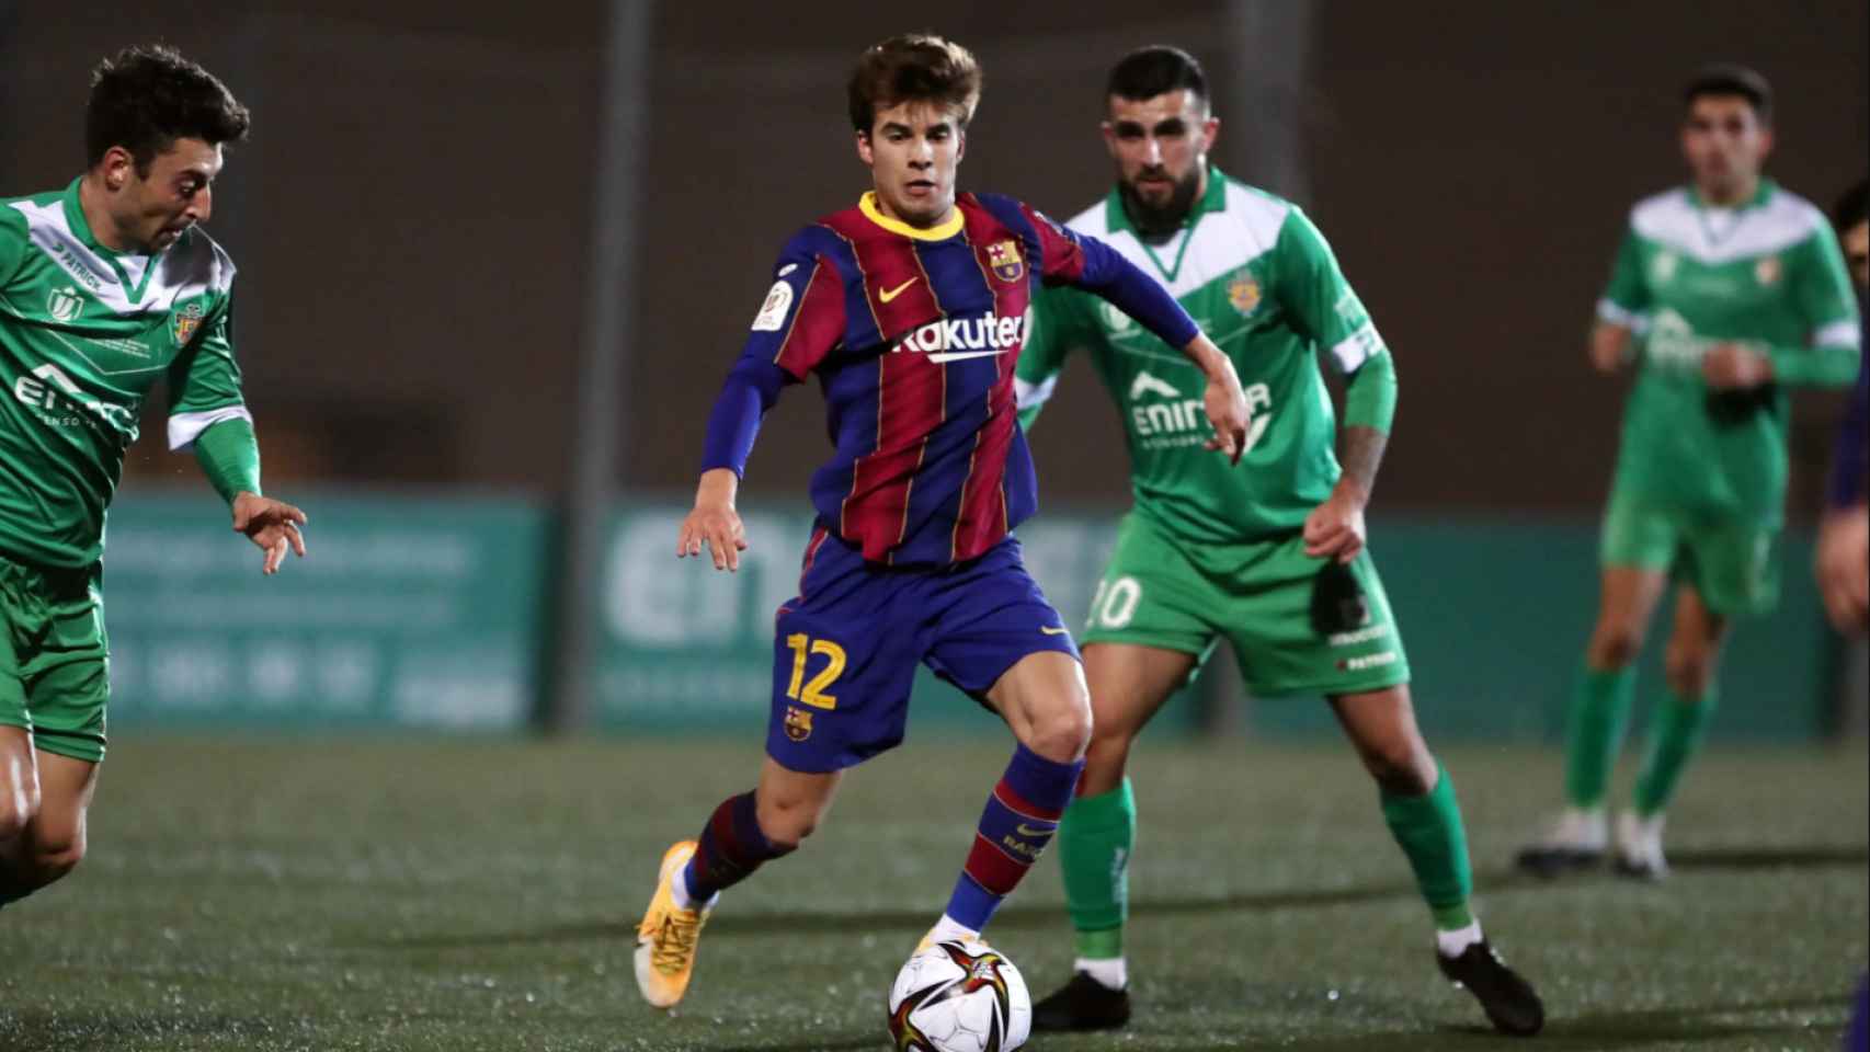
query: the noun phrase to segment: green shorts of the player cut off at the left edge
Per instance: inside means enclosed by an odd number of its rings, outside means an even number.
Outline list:
[[[0,725],[94,764],[105,759],[110,697],[101,585],[101,562],[65,570],[0,559]]]

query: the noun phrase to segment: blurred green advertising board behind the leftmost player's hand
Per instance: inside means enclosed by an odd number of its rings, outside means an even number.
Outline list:
[[[112,731],[525,723],[546,613],[540,508],[295,499],[309,555],[273,577],[213,495],[112,508]]]

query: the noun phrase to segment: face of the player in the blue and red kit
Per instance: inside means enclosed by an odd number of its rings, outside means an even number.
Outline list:
[[[967,133],[959,114],[937,103],[899,103],[877,110],[856,155],[877,183],[877,207],[909,226],[935,226],[954,209],[954,174]]]

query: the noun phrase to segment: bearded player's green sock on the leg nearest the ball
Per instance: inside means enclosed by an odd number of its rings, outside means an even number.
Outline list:
[[[1129,917],[1129,852],[1137,845],[1137,800],[1126,777],[1100,796],[1079,796],[1058,822],[1064,897],[1077,929],[1077,955],[1124,955]]]

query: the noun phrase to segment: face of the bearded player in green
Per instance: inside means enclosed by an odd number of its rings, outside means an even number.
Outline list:
[[[1172,230],[1208,189],[1208,151],[1221,121],[1186,90],[1154,99],[1111,95],[1103,144],[1129,217],[1146,230]]]

